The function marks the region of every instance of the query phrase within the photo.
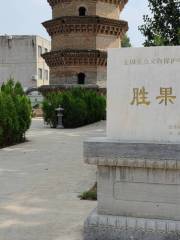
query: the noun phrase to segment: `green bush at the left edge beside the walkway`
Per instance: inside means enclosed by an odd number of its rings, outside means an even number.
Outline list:
[[[30,101],[21,84],[9,80],[0,88],[0,147],[24,141],[30,124]]]

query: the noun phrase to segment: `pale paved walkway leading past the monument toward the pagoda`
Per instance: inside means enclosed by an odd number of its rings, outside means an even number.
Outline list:
[[[0,150],[0,240],[82,240],[96,202],[78,194],[96,179],[82,143],[104,135],[105,123],[55,130],[33,120],[24,144]]]

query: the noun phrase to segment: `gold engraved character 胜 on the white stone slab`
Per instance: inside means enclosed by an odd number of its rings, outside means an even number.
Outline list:
[[[131,105],[150,105],[150,101],[148,101],[148,92],[146,92],[145,87],[142,88],[133,88],[133,100],[131,101]]]

